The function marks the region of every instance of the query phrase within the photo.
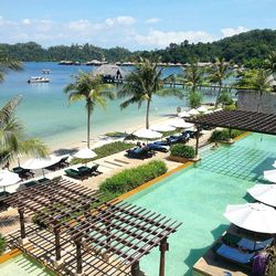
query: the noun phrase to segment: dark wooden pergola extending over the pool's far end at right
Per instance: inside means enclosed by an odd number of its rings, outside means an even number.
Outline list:
[[[197,134],[204,126],[223,127],[244,131],[276,135],[276,115],[246,110],[221,110],[198,117],[187,118],[197,127]],[[195,155],[199,151],[199,135],[197,135]]]

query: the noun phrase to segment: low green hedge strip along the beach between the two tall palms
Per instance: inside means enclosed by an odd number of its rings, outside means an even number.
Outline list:
[[[123,142],[123,141],[114,141],[110,144],[103,145],[102,147],[95,148],[94,151],[97,153],[97,156],[93,159],[79,159],[79,158],[73,158],[71,160],[72,164],[75,163],[87,163],[89,161],[106,157],[106,156],[112,156],[117,152],[120,152],[126,149],[130,149],[135,146],[135,144],[130,142]]]

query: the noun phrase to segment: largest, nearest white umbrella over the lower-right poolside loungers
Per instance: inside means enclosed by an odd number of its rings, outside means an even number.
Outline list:
[[[276,233],[276,210],[263,203],[227,205],[224,216],[242,229],[258,233]]]

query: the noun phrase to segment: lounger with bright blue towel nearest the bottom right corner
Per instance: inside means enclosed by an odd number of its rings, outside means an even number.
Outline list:
[[[242,252],[223,243],[217,243],[212,251],[220,257],[242,266],[251,266],[255,253]]]

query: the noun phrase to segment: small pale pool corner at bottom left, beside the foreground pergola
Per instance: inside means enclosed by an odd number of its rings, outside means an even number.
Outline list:
[[[54,276],[53,273],[43,266],[31,261],[24,255],[19,255],[0,264],[1,276]]]

